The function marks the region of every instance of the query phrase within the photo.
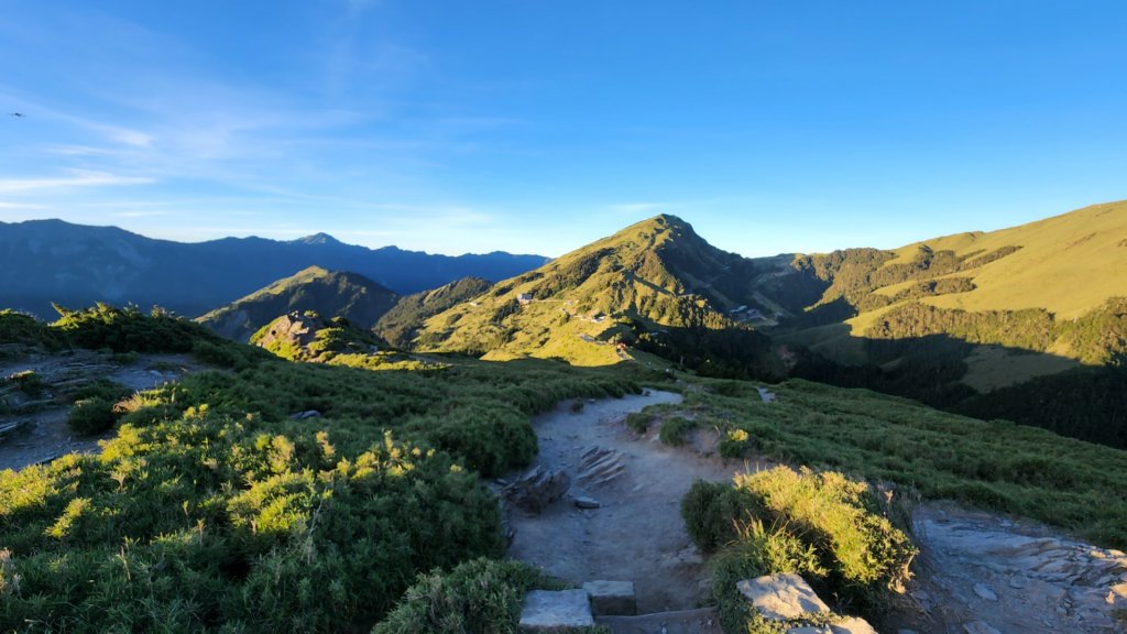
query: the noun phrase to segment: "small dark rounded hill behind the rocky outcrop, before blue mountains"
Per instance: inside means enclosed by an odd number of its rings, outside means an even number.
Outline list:
[[[216,308],[197,322],[224,337],[243,342],[278,315],[292,311],[312,310],[325,317],[344,317],[367,328],[398,299],[396,293],[363,275],[310,266]]]

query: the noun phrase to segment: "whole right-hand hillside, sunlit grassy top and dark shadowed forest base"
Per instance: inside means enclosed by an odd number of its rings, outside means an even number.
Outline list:
[[[895,250],[796,256],[792,375],[1127,446],[1127,202]]]

